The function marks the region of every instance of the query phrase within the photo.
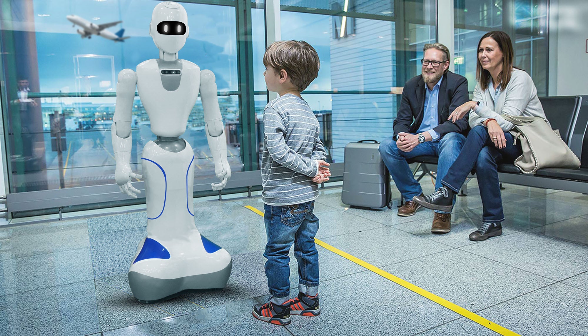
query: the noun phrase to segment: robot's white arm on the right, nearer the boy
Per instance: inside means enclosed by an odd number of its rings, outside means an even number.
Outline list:
[[[212,183],[213,190],[220,190],[226,186],[230,179],[230,166],[226,159],[225,126],[220,115],[219,101],[216,96],[215,74],[211,70],[200,72],[200,96],[204,109],[204,121],[206,122],[206,139],[211,148],[212,159],[215,162],[216,177],[220,183]]]

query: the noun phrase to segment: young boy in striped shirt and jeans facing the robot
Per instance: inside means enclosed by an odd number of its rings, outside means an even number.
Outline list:
[[[261,174],[265,203],[265,274],[269,303],[253,307],[253,316],[273,324],[290,323],[290,314],[320,314],[319,257],[315,235],[319,219],[313,214],[318,183],[329,180],[329,163],[319,139],[319,122],[300,92],[316,78],[319,56],[304,41],[272,43],[263,55],[268,90],[278,92],[263,111]],[[300,293],[290,294],[290,257],[298,260]]]

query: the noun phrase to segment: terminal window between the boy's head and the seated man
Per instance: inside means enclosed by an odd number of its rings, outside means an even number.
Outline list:
[[[391,136],[402,86],[420,73],[423,45],[436,41],[436,2],[280,4],[282,39],[309,42],[319,54],[319,77],[302,96],[321,123],[328,159],[343,162],[349,142]],[[396,7],[402,12],[394,16]],[[343,20],[345,8],[361,17]],[[322,14],[325,10],[332,15]]]

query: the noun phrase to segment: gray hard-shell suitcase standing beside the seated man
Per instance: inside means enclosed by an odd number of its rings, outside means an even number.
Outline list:
[[[361,140],[345,146],[343,164],[344,204],[368,208],[392,208],[390,174],[380,157],[376,140]]]

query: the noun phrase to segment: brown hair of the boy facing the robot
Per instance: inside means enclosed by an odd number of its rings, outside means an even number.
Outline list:
[[[300,92],[319,75],[320,69],[319,55],[305,41],[273,42],[263,55],[263,65],[271,66],[276,73],[286,70]]]

